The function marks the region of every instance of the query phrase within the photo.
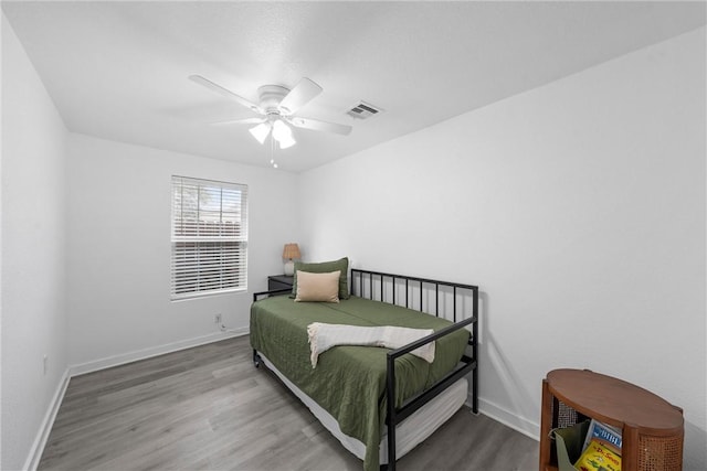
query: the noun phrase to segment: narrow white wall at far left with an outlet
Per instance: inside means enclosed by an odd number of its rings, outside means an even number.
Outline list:
[[[63,121],[3,14],[3,470],[24,467],[32,454],[67,364],[65,138]]]

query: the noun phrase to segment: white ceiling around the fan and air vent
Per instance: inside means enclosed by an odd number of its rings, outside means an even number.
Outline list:
[[[253,116],[188,81],[257,100],[309,77],[300,115],[347,137],[296,129],[276,150],[300,172],[705,24],[704,2],[2,2],[71,131],[267,165]],[[358,100],[386,113],[354,120]]]

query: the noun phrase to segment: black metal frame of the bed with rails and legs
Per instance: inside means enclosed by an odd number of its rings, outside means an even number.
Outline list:
[[[404,304],[403,300],[397,298],[397,292],[402,290],[404,281]],[[409,309],[416,309],[428,314],[440,317],[441,296],[452,299],[452,319],[454,324],[444,328],[431,335],[404,345],[400,349],[388,352],[387,355],[387,379],[386,379],[386,398],[388,402],[386,426],[388,429],[388,467],[389,471],[395,470],[395,427],[414,414],[422,406],[439,396],[443,390],[454,384],[456,381],[472,373],[472,411],[478,414],[478,287],[473,285],[462,285],[450,281],[440,281],[428,278],[411,277],[405,275],[393,275],[381,271],[369,271],[352,268],[349,287],[352,296],[359,298],[371,299],[374,301],[387,302],[390,304],[404,306]],[[418,298],[411,296],[418,291]],[[434,289],[433,289],[434,288]],[[253,295],[253,301],[264,296],[284,295],[291,290],[265,291]],[[386,295],[389,295],[388,300]],[[424,296],[426,293],[426,297]],[[457,302],[460,296],[468,293],[472,297],[471,315],[462,315],[464,302]],[[431,311],[431,298],[434,298],[434,312]],[[443,298],[444,299],[444,298]],[[418,301],[416,307],[415,300]],[[426,303],[425,303],[426,301]],[[426,308],[425,308],[426,307]],[[449,310],[446,312],[450,312]],[[444,315],[443,315],[444,317]],[[446,319],[446,317],[444,317]],[[461,319],[461,320],[457,320]],[[444,378],[433,384],[430,388],[419,393],[418,395],[405,400],[401,407],[395,407],[395,358],[419,349],[430,342],[434,342],[458,329],[471,325],[472,334],[468,340],[471,355],[464,354],[457,366],[449,373]],[[468,353],[468,352],[467,352]],[[253,351],[253,361],[260,364],[256,351]],[[382,468],[382,467],[381,467]]]

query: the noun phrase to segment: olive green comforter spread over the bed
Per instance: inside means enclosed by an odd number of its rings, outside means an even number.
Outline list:
[[[386,424],[386,354],[388,349],[342,345],[309,362],[307,325],[326,322],[351,325],[398,325],[434,329],[450,321],[398,306],[351,297],[340,303],[294,302],[286,296],[258,300],[251,307],[251,345],[299,389],[331,414],[341,431],[366,445],[363,468],[379,469],[381,431]],[[405,354],[395,360],[395,406],[434,384],[462,357],[469,332],[460,329],[437,340],[432,364]]]

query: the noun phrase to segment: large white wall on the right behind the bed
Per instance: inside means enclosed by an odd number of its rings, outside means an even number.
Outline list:
[[[537,437],[545,374],[590,368],[705,469],[705,98],[700,29],[306,172],[304,249],[479,285],[485,414]]]

